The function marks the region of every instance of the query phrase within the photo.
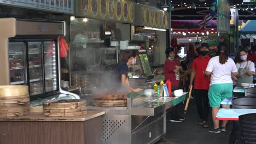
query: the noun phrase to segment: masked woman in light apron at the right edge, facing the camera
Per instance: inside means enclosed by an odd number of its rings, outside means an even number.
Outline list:
[[[237,52],[236,68],[238,70],[236,86],[241,87],[241,83],[252,83],[252,75],[255,73],[254,63],[248,61],[248,53],[245,49]]]

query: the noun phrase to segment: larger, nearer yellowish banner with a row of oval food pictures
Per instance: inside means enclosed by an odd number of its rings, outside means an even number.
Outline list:
[[[135,23],[135,3],[124,0],[78,0],[78,15]]]

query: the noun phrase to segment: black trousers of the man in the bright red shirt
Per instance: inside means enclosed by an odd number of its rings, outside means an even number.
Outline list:
[[[208,90],[204,89],[195,89],[195,100],[197,106],[197,113],[199,117],[203,121],[207,121],[210,106],[209,106],[209,99],[208,99]]]

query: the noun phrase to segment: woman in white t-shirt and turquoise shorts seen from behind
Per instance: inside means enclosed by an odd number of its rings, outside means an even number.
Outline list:
[[[208,98],[212,107],[212,120],[214,128],[210,129],[211,133],[220,133],[226,131],[226,123],[223,121],[222,127],[219,128],[219,120],[215,119],[219,111],[220,102],[227,97],[232,97],[232,79],[231,75],[236,76],[237,69],[233,59],[228,57],[228,45],[220,43],[218,46],[219,56],[210,59],[207,68],[203,73],[205,76],[211,76]],[[222,105],[223,108],[229,109],[229,105]]]

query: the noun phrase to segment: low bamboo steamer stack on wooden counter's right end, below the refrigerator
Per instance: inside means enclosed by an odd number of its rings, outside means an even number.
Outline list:
[[[43,110],[44,116],[47,117],[71,117],[87,114],[86,101],[83,99],[45,101]]]

